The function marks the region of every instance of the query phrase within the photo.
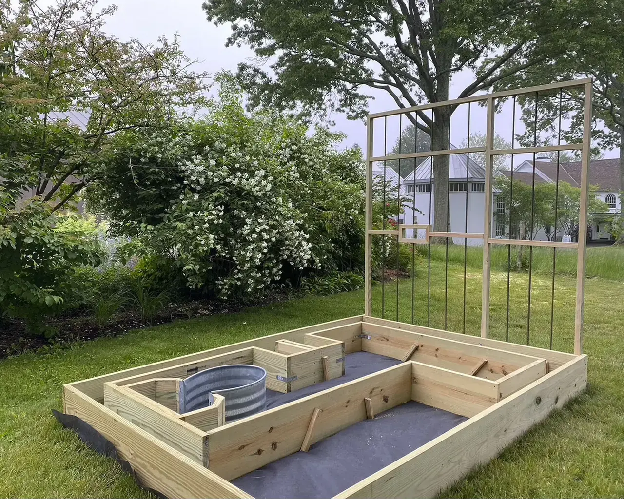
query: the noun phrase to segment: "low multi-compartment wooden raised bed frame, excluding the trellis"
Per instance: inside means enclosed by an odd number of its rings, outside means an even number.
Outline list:
[[[338,344],[344,354],[365,351],[399,361],[411,355],[383,371],[229,424],[219,400],[178,413],[180,380],[205,366],[256,363],[256,349],[276,354],[265,347],[273,349],[277,341],[319,353]],[[333,364],[330,369],[342,374],[343,362]],[[432,497],[586,384],[585,355],[356,316],[67,384],[64,399],[67,414],[104,435],[142,483],[168,497],[250,497],[229,480],[416,400],[469,419],[336,497]],[[446,466],[449,459],[459,465]]]

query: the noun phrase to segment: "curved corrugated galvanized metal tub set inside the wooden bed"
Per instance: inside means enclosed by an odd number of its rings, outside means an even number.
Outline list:
[[[225,420],[232,422],[266,410],[266,371],[247,364],[200,371],[180,383],[180,414],[213,403],[212,394],[225,398]]]

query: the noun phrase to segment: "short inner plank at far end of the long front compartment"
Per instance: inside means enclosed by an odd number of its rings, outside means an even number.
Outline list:
[[[498,384],[441,367],[411,362],[412,400],[472,417],[498,402]]]

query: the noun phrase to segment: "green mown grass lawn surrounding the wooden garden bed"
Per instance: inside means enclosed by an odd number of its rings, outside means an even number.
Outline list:
[[[414,283],[414,317],[427,324],[426,266]],[[463,264],[449,264],[447,329],[464,327]],[[423,282],[424,278],[424,282]],[[432,261],[432,327],[444,327],[444,264]],[[530,344],[550,341],[550,278],[533,279]],[[512,274],[509,337],[526,341],[527,274]],[[572,351],[575,280],[558,276],[553,347]],[[381,286],[374,288],[381,316]],[[478,334],[481,276],[469,268],[466,332]],[[446,497],[624,496],[624,283],[589,279],[585,352],[587,392],[472,473]],[[399,283],[399,319],[411,321],[411,279]],[[384,286],[385,316],[396,319],[396,283]],[[492,337],[504,339],[507,274],[492,273]],[[99,339],[71,350],[26,354],[0,362],[0,497],[150,497],[112,460],[61,429],[51,409],[61,409],[61,385],[251,337],[286,331],[363,311],[363,292],[308,297],[238,314],[178,321],[123,337]]]

